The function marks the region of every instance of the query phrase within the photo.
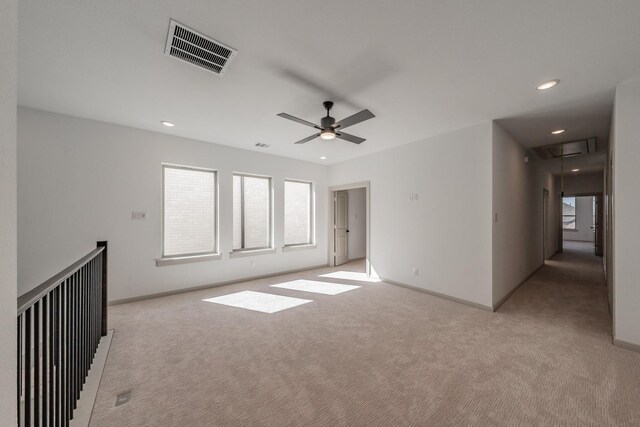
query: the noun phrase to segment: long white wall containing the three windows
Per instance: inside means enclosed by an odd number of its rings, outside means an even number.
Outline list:
[[[21,293],[98,240],[109,241],[111,301],[327,263],[326,166],[25,108],[18,141]],[[156,267],[163,162],[218,170],[221,260]],[[229,258],[234,171],[273,177],[276,254]],[[315,182],[316,249],[282,253],[285,178]]]

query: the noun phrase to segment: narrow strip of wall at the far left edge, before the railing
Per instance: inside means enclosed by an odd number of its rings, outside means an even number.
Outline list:
[[[18,2],[0,2],[0,424],[16,424],[16,63]]]

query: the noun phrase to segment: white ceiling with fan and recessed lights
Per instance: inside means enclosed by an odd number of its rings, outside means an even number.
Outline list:
[[[20,105],[318,163],[492,119],[527,146],[606,139],[640,75],[638,0],[21,0],[19,18]],[[170,18],[238,50],[224,77],[164,55]],[[311,129],[276,114],[317,122],[326,99],[376,114],[348,131],[365,143],[292,144]]]

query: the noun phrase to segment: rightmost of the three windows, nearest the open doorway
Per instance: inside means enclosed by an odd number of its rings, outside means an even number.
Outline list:
[[[313,194],[310,182],[284,182],[284,244],[313,243]]]

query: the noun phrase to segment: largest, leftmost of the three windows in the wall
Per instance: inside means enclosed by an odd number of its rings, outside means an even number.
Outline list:
[[[216,253],[216,172],[163,165],[162,173],[162,257]]]

